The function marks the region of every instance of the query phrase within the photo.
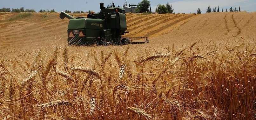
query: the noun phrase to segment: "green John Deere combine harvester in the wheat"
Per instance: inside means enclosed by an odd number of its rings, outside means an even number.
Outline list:
[[[100,3],[100,13],[89,14],[86,17],[74,18],[65,12],[60,13],[60,18],[70,19],[68,24],[69,45],[125,45],[148,43],[148,37],[122,37],[128,33],[125,9],[105,8]],[[132,42],[144,39],[145,42]]]

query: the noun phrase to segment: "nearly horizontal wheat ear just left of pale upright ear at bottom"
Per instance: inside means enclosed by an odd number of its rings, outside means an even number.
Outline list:
[[[69,100],[56,100],[56,101],[51,101],[49,103],[42,103],[40,105],[37,105],[38,107],[41,108],[46,108],[46,107],[54,107],[54,106],[59,106],[59,105],[72,105],[72,103]]]

